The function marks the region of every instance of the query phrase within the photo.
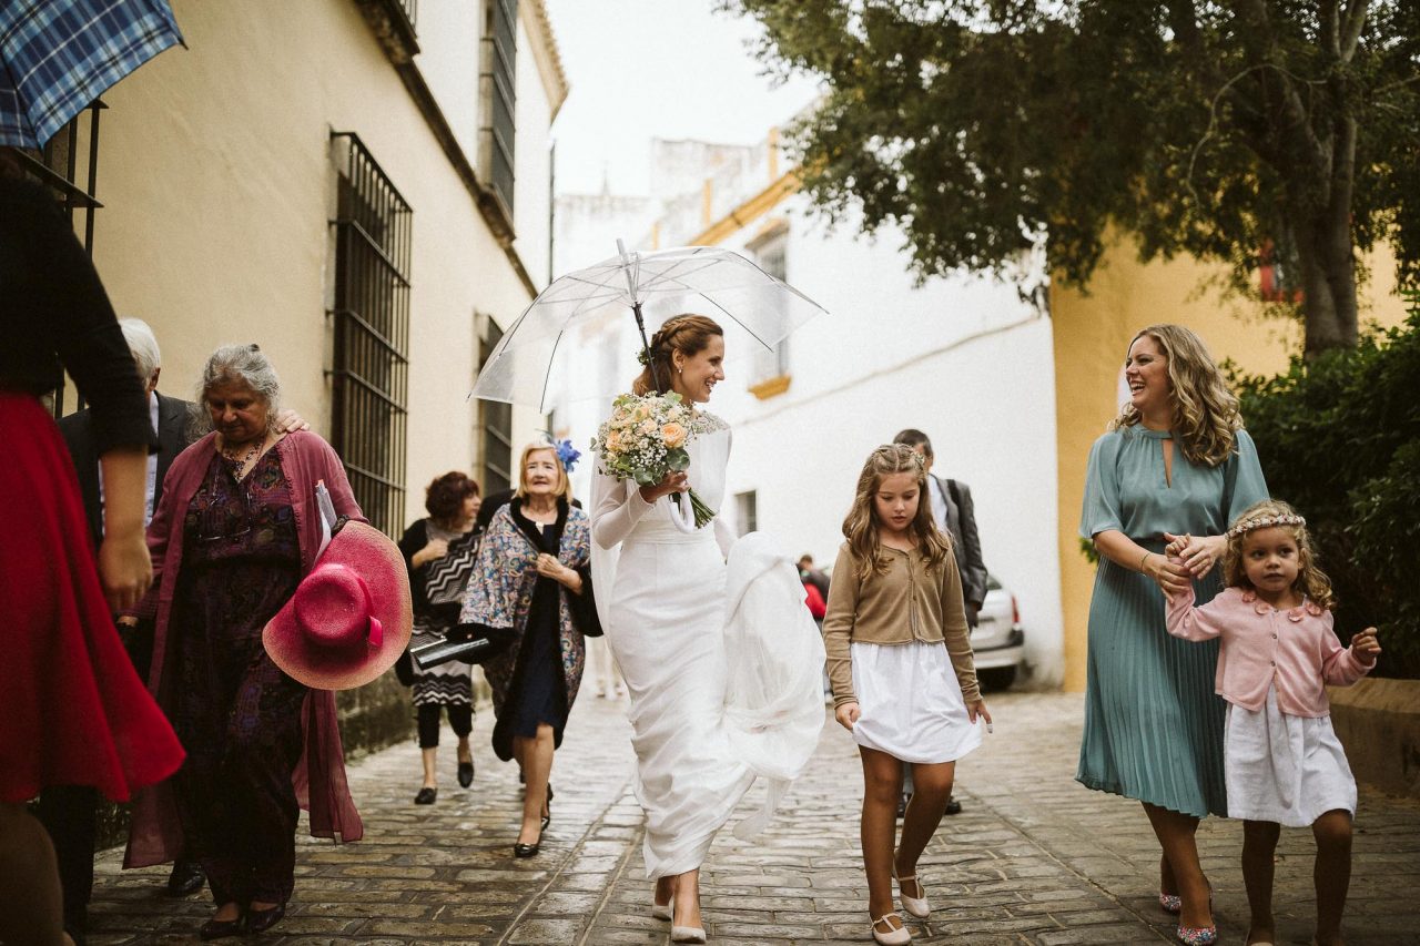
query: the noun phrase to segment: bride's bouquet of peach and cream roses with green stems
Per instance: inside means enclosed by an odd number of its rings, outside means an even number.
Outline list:
[[[694,433],[694,416],[680,395],[628,393],[612,402],[612,416],[596,430],[592,450],[601,455],[602,473],[655,486],[667,473],[690,467],[686,445]],[[714,510],[694,490],[689,499],[696,528],[714,518]]]

